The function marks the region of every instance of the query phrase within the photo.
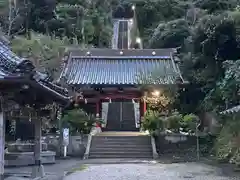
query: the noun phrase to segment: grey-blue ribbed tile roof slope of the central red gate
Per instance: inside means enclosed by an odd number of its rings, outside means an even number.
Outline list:
[[[61,78],[69,85],[174,84],[180,72],[170,56],[70,57]]]

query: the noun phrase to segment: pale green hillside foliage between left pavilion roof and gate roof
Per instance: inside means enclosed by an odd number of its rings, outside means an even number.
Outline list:
[[[43,34],[31,34],[31,39],[17,36],[12,40],[12,50],[33,62],[37,70],[47,72],[52,78],[59,77],[61,59],[70,45],[67,38],[52,38]]]

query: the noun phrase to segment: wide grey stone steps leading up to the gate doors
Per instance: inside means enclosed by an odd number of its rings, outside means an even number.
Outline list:
[[[92,137],[89,159],[152,159],[151,136],[139,132],[103,132]]]

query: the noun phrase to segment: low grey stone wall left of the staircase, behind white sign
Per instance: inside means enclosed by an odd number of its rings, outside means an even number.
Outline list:
[[[87,146],[88,135],[70,136],[69,145],[67,148],[67,155],[74,157],[83,157]],[[47,144],[49,151],[56,152],[56,156],[60,156],[60,137],[59,135],[43,136],[43,142]]]

